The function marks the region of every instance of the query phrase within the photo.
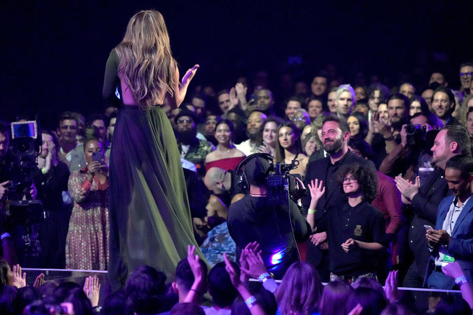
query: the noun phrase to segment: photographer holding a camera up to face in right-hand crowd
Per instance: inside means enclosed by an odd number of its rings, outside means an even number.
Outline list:
[[[409,181],[419,176],[423,182],[434,170],[430,164],[430,148],[438,131],[431,131],[433,128],[438,128],[435,115],[430,112],[415,113],[410,124],[402,126],[401,143],[384,158],[379,171],[393,178],[402,174]]]

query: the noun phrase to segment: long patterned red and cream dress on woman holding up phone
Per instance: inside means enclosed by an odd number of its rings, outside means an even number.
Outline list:
[[[68,188],[74,207],[66,240],[66,268],[107,270],[108,181],[87,180],[86,168],[70,174]]]

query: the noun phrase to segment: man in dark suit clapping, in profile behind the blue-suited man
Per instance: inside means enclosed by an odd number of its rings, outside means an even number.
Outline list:
[[[403,203],[410,204],[413,218],[409,224],[408,244],[414,256],[414,261],[407,270],[403,285],[407,287],[422,287],[425,269],[430,252],[426,247],[424,225],[435,226],[440,201],[451,194],[445,181],[445,164],[457,154],[470,155],[470,140],[463,126],[445,126],[434,140],[431,148],[432,164],[436,169],[430,173],[425,183],[420,183],[417,176],[414,183],[398,176],[396,187],[403,195]]]

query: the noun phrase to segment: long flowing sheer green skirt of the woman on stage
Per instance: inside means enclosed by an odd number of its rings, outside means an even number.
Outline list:
[[[196,245],[176,139],[161,107],[120,110],[110,153],[108,278],[123,287],[139,265],[173,279]]]

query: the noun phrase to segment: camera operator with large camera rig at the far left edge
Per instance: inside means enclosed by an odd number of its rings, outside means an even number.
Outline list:
[[[26,124],[28,132],[36,130],[35,123]],[[34,257],[39,252],[33,224],[42,211],[40,202],[32,201],[36,197],[32,171],[37,143],[38,139],[26,136],[11,140],[11,126],[0,123],[0,238],[2,256],[10,264],[34,264],[35,259],[25,255]]]

